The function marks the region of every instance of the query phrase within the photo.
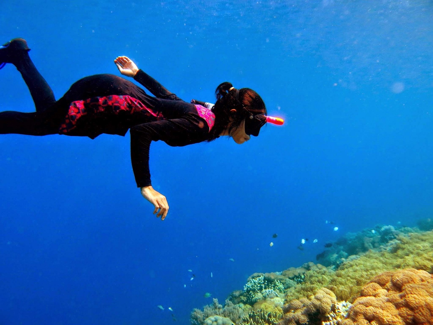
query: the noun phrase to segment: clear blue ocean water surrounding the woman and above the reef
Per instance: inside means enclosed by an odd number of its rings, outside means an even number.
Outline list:
[[[163,222],[136,188],[129,134],[0,136],[1,324],[172,324],[168,307],[188,324],[252,273],[432,214],[431,1],[23,0],[0,23],[57,98],[120,75],[127,55],[186,101],[230,81],[286,120],[242,146],[153,143]],[[0,82],[0,111],[34,110],[12,65]]]

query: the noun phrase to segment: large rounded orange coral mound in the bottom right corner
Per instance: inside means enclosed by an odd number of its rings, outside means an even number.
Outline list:
[[[361,290],[342,325],[433,325],[433,276],[423,270],[388,271]]]

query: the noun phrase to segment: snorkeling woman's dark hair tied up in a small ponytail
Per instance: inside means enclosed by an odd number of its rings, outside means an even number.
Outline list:
[[[233,130],[236,130],[242,121],[249,115],[264,114],[266,115],[266,106],[255,91],[249,88],[239,89],[237,96],[237,89],[233,88],[229,82],[223,82],[215,90],[216,103],[212,111],[215,114],[215,125],[210,131],[210,140],[215,140],[224,130],[227,129],[232,118],[232,123],[229,127],[229,135]],[[233,114],[230,110],[236,110]]]

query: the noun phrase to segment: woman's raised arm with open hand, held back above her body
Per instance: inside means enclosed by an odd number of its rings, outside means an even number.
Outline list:
[[[139,69],[137,65],[127,56],[117,57],[114,60],[114,63],[116,63],[116,66],[122,75],[134,78],[134,80],[138,81],[145,88],[149,89],[149,91],[156,97],[170,99],[173,101],[181,101],[179,97],[168,91],[164,86],[162,86],[162,84],[149,76],[143,70]]]

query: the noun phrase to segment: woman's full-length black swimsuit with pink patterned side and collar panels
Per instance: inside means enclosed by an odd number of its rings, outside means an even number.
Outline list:
[[[152,140],[186,146],[210,137],[215,118],[210,110],[203,110],[207,116],[200,115],[201,106],[182,101],[142,70],[134,79],[156,97],[115,75],[93,75],[75,82],[55,101],[51,88],[28,55],[15,65],[29,87],[36,112],[1,112],[0,134],[59,133],[94,139],[102,133],[124,136],[130,129],[132,169],[138,187],[151,185]]]

